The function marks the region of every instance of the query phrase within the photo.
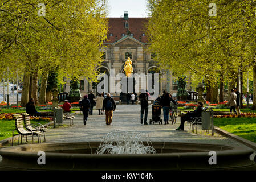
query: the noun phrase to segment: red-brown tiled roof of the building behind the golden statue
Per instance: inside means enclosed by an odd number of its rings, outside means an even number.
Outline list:
[[[129,31],[133,34],[133,38],[139,40],[142,43],[147,43],[147,36],[143,36],[146,31],[146,24],[149,18],[108,18],[108,40],[105,43],[115,43],[127,35],[127,28],[125,28],[125,22],[129,23]],[[112,36],[110,36],[112,34]]]

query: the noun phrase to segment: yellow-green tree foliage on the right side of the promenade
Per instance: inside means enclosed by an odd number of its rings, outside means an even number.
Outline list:
[[[217,84],[220,75],[231,81],[239,67],[247,71],[254,63],[256,19],[251,1],[216,1],[213,17],[208,15],[210,3],[148,1],[149,51],[156,53],[162,68],[177,75],[192,74],[194,85],[201,78]]]

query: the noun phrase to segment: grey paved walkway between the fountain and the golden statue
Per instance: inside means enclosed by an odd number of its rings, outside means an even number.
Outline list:
[[[151,106],[149,106],[151,108]],[[78,112],[80,113],[80,112]],[[161,115],[163,118],[163,116]],[[149,119],[152,118],[152,111],[149,109]],[[65,121],[66,122],[66,121]],[[141,125],[140,124],[140,105],[117,105],[113,114],[112,125],[105,125],[105,115],[98,115],[94,110],[94,115],[88,118],[87,125],[83,125],[83,115],[76,114],[74,125],[71,127],[60,127],[51,129],[46,134],[46,143],[56,142],[84,142],[84,141],[101,141],[102,138],[111,131],[117,132],[136,132],[144,133],[151,141],[162,142],[188,142],[188,143],[208,143],[208,144],[225,144],[229,146],[243,146],[232,139],[222,137],[214,133],[214,136],[206,134],[205,131],[199,131],[195,134],[189,131],[189,126],[185,123],[186,131],[176,131],[180,125],[180,117],[177,118],[176,124],[172,125]],[[246,147],[246,146],[245,146]]]

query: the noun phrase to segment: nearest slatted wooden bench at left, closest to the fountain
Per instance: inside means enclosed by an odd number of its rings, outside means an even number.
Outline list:
[[[39,143],[39,136],[40,136],[40,142],[41,142],[41,134],[42,134],[41,131],[32,131],[28,127],[23,126],[23,117],[21,114],[14,114],[13,116],[15,118],[15,129],[13,130],[13,136],[14,136],[14,131],[16,130],[18,134],[21,135],[21,144],[22,144],[22,137],[26,136],[26,141],[27,141],[27,136],[29,135],[32,136],[33,144],[34,144],[34,135],[38,137],[38,143]],[[18,144],[19,144],[19,140],[18,140]],[[11,145],[13,146],[13,139],[12,139]]]

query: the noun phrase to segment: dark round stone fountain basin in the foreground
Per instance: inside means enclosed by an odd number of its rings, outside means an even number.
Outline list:
[[[253,150],[216,144],[152,142],[156,154],[96,154],[101,142],[43,143],[0,150],[0,169],[7,170],[255,170],[249,159]],[[147,145],[147,143],[145,142]],[[38,151],[46,154],[39,165]],[[216,151],[217,164],[209,164],[209,151]]]

